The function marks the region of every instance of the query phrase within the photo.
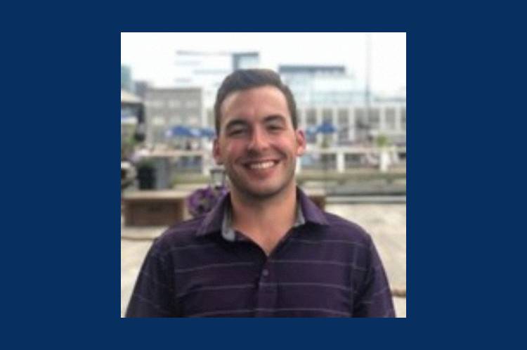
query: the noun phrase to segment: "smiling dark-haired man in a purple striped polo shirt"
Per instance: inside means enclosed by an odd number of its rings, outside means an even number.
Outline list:
[[[393,317],[370,235],[297,188],[306,140],[271,70],[238,70],[214,106],[230,193],[152,245],[127,317]]]

